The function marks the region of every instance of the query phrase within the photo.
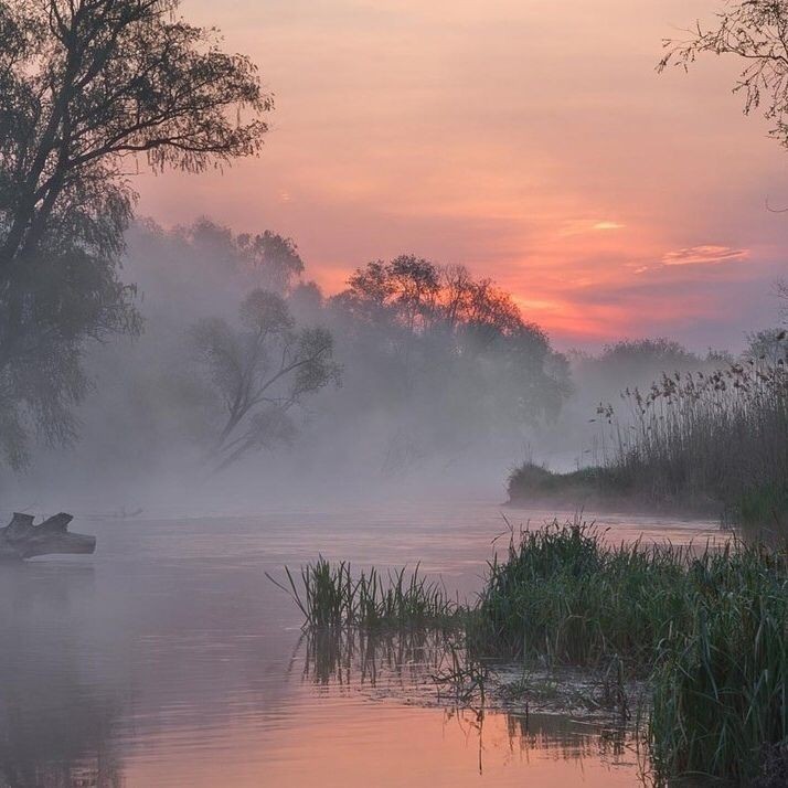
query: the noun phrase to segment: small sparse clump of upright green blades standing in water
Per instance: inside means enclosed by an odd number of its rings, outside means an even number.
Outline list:
[[[443,584],[427,581],[416,565],[383,575],[372,567],[353,576],[349,562],[332,564],[322,556],[300,571],[300,584],[285,567],[286,584],[268,578],[287,592],[308,627],[423,627],[448,624],[458,605]]]

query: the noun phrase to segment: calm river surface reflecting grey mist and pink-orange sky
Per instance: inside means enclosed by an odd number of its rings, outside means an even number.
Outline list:
[[[547,512],[507,517],[534,525]],[[715,535],[709,522],[599,522],[615,541]],[[436,704],[413,657],[316,669],[298,611],[264,574],[319,553],[420,561],[471,596],[504,530],[494,501],[77,518],[74,530],[98,536],[94,556],[0,566],[2,787],[640,785],[626,736]]]

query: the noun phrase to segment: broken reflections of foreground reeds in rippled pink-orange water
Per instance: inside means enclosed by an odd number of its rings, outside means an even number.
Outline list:
[[[504,731],[505,750],[525,763],[546,757],[582,767],[586,759],[593,759],[609,768],[632,770],[633,780],[647,784],[648,759],[633,725],[530,713],[525,696],[519,700],[520,711],[501,709],[500,699],[486,694],[483,685],[468,692],[466,684],[459,686],[447,680],[447,675],[462,670],[462,660],[461,646],[451,631],[319,628],[302,632],[288,673],[300,673],[302,682],[340,696],[361,689],[379,700],[393,698],[406,704],[438,706],[444,725],[457,726],[467,746],[477,752],[480,775],[484,774],[488,744],[500,747]],[[483,684],[484,679],[479,681]],[[490,726],[493,741],[488,743]]]

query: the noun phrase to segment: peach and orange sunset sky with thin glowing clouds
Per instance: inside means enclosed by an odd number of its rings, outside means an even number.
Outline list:
[[[138,213],[292,237],[327,292],[413,253],[509,289],[556,347],[776,324],[788,151],[741,64],[654,66],[722,0],[183,0],[259,66],[262,156],[142,175]]]

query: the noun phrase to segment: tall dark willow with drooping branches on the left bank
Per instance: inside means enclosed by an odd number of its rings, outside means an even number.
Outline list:
[[[257,153],[254,64],[178,0],[0,0],[0,451],[67,441],[86,340],[140,328],[118,263],[141,168]]]

